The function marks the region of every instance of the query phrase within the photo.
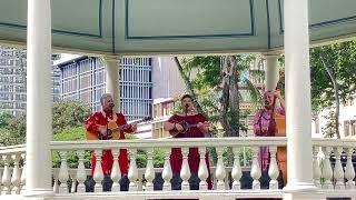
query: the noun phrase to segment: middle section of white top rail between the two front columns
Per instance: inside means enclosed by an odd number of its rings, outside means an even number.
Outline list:
[[[188,147],[260,147],[286,146],[285,137],[248,138],[182,138],[182,139],[139,139],[139,140],[96,140],[96,141],[52,141],[51,149],[111,149],[111,148],[188,148]]]

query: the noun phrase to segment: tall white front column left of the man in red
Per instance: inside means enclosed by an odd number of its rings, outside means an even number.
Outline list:
[[[51,196],[51,1],[28,0],[26,196]]]

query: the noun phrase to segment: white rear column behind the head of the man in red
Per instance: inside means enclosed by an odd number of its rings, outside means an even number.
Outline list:
[[[103,57],[106,62],[106,93],[111,93],[115,102],[113,110],[120,111],[119,60],[118,57]]]

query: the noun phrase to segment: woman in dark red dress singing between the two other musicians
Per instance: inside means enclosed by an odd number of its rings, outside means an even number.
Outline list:
[[[194,107],[194,100],[191,96],[185,94],[181,98],[181,106],[184,108],[184,112],[180,114],[174,114],[167,122],[165,122],[165,130],[169,131],[172,138],[205,138],[209,137],[209,126],[208,120],[201,114],[198,113]],[[196,124],[196,127],[191,127],[185,130],[184,124]],[[198,178],[198,169],[199,169],[200,156],[198,148],[189,148],[188,154],[188,163],[191,177],[189,179],[190,190],[199,189],[199,178]],[[182,154],[180,148],[172,148],[170,154],[170,166],[174,173],[171,183],[172,190],[180,190],[180,169],[182,163]],[[206,153],[206,163],[208,168],[209,177],[206,180],[208,183],[208,189],[211,189],[211,180],[210,180],[210,169],[209,169],[209,157]]]

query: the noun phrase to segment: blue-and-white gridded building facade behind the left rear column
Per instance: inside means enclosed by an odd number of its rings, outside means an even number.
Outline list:
[[[61,97],[80,100],[99,111],[105,93],[106,70],[100,58],[80,57],[58,66],[61,70]],[[151,116],[152,64],[150,58],[123,58],[120,61],[120,108],[127,120]]]

